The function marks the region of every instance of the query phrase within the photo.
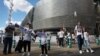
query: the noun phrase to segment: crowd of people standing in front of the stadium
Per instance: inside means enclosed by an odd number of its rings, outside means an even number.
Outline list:
[[[40,30],[38,32],[34,32],[30,28],[30,24],[27,23],[24,27],[20,26],[18,24],[13,25],[10,23],[5,28],[5,38],[4,38],[4,50],[3,54],[11,54],[12,49],[12,42],[13,42],[13,33],[15,29],[20,29],[20,32],[22,33],[21,40],[19,40],[20,43],[17,44],[15,51],[22,52],[22,48],[24,48],[23,56],[28,55],[30,56],[31,51],[31,39],[34,40],[36,37],[40,38],[40,48],[41,48],[41,54],[48,56],[48,51],[51,49],[51,33],[46,33],[44,30]],[[68,48],[72,47],[72,42],[76,43],[79,48],[79,53],[83,53],[83,47],[85,48],[86,52],[93,53],[94,50],[92,50],[90,43],[89,43],[89,33],[86,31],[86,28],[81,25],[80,22],[75,26],[75,29],[73,31],[74,33],[71,33],[70,31],[64,30],[63,28],[60,29],[59,32],[57,32],[57,42],[59,47],[64,47],[64,40],[66,42],[66,45]]]

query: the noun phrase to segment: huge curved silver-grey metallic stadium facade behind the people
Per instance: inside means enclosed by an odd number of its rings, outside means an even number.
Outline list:
[[[26,21],[31,21],[35,31],[53,31],[61,27],[73,31],[80,21],[92,32],[96,17],[92,0],[40,0],[34,9],[30,10],[22,25]]]

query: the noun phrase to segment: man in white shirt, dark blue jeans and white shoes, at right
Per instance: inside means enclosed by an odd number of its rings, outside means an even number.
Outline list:
[[[81,26],[80,22],[75,26],[74,29],[75,35],[77,37],[79,53],[82,54],[82,45],[83,45],[83,27]]]

